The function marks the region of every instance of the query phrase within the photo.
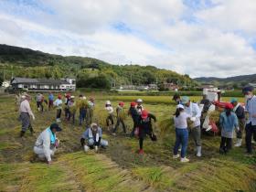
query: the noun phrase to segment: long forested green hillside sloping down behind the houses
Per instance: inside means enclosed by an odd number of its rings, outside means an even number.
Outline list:
[[[196,84],[188,75],[153,66],[112,65],[99,59],[63,57],[7,45],[0,45],[0,67],[0,75],[5,76],[5,80],[12,76],[48,79],[75,77],[80,87],[90,84],[94,88],[110,88],[111,85],[144,85],[164,81],[188,87]]]

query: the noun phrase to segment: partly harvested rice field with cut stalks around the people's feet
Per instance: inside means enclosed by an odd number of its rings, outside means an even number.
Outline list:
[[[146,139],[145,154],[138,155],[138,140],[123,134],[121,127],[117,136],[112,136],[103,111],[106,100],[111,100],[113,107],[124,101],[127,111],[129,102],[138,97],[92,96],[96,101],[94,122],[101,124],[109,147],[98,154],[82,151],[80,135],[85,126],[79,126],[77,113],[75,124],[60,123],[60,147],[52,165],[34,161],[32,149],[37,135],[55,121],[55,111],[37,112],[34,101],[36,120],[32,123],[36,133],[26,133],[23,141],[18,137],[20,123],[14,97],[0,97],[0,191],[256,191],[256,156],[245,156],[244,144],[242,148],[233,148],[229,155],[219,155],[219,136],[203,135],[201,158],[195,156],[194,143],[189,138],[190,163],[172,159],[175,130],[168,119],[175,112],[175,104],[170,97],[140,97],[144,108],[156,115],[154,130],[158,141]],[[125,123],[131,132],[131,117],[127,116]]]

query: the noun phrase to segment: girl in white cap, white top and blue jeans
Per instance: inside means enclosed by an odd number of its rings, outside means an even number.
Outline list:
[[[174,147],[174,155],[173,158],[176,159],[180,155],[178,155],[178,147],[181,144],[181,159],[180,161],[183,163],[189,162],[187,159],[187,143],[188,143],[188,130],[187,130],[187,118],[191,116],[184,111],[184,106],[182,104],[178,104],[176,106],[175,113],[175,127],[176,127],[176,144]]]

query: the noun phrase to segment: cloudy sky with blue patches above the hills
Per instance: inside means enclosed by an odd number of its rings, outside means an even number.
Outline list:
[[[256,0],[0,0],[0,44],[190,77],[256,73]]]

